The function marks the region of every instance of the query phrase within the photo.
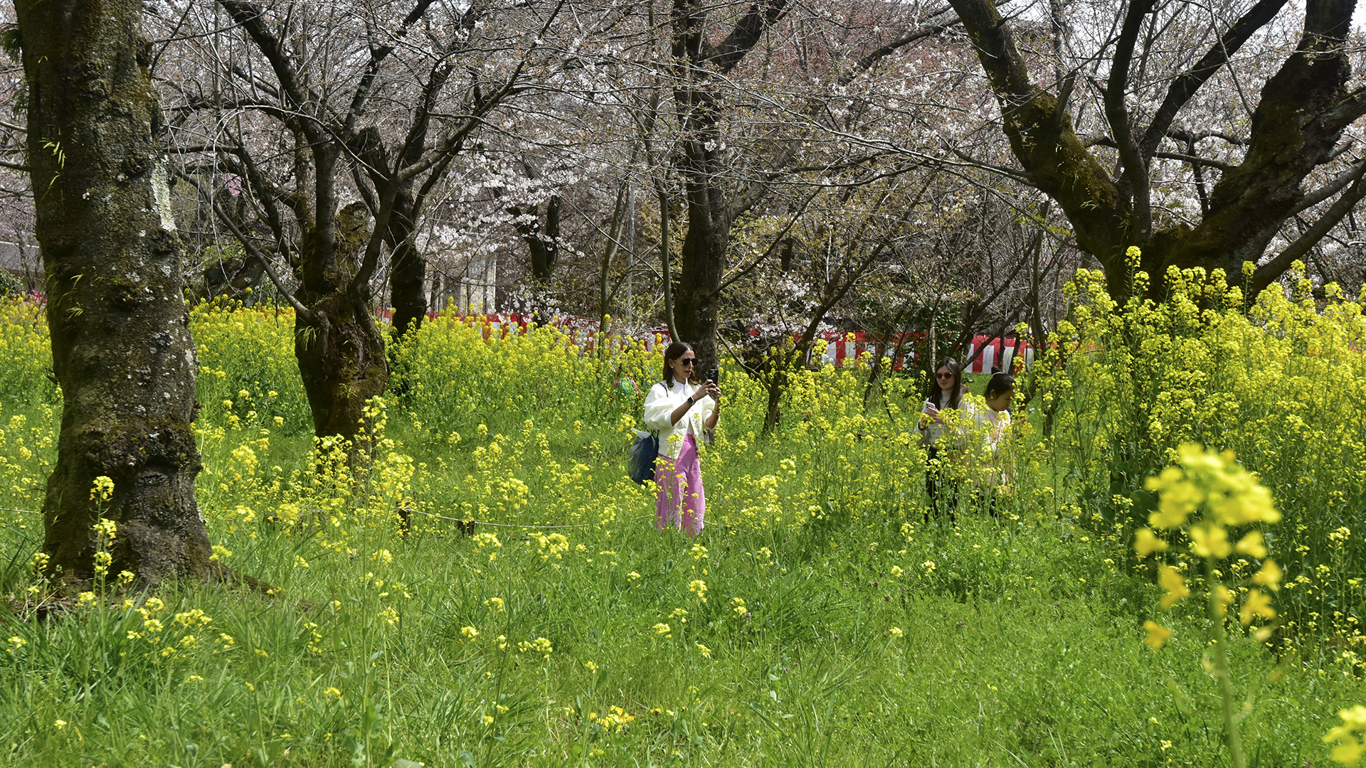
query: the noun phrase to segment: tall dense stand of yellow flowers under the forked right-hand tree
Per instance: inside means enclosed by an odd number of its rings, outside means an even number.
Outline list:
[[[1180,445],[1232,451],[1284,518],[1258,547],[1285,571],[1276,642],[1336,638],[1355,657],[1366,645],[1358,578],[1366,562],[1366,318],[1336,284],[1320,306],[1299,265],[1291,282],[1292,290],[1272,286],[1247,306],[1220,271],[1172,269],[1167,299],[1156,303],[1141,298],[1149,277],[1135,272],[1134,298],[1119,306],[1098,272],[1079,271],[1067,286],[1068,320],[1026,385],[1037,389],[1037,421],[1050,432],[1057,492],[1075,496],[1079,521],[1115,541],[1147,525],[1160,488],[1146,478],[1184,461]],[[1233,574],[1255,570],[1250,552],[1235,553]],[[1154,575],[1150,564],[1134,564]]]

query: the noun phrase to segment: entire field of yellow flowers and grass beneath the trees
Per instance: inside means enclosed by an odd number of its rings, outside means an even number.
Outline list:
[[[964,470],[956,525],[926,519],[918,380],[803,370],[765,437],[766,392],[725,372],[695,540],[656,532],[624,474],[657,354],[430,321],[348,461],[311,439],[292,314],[201,305],[199,504],[219,558],[273,594],[108,574],[60,603],[33,512],[60,396],[41,310],[3,303],[0,760],[1347,760],[1366,728],[1359,305],[1242,312],[1218,276],[1172,280],[1116,307],[1078,276],[1020,384],[1009,482],[974,493]]]

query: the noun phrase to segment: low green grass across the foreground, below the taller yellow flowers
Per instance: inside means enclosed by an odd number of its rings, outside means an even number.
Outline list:
[[[724,488],[714,496],[725,504]],[[902,519],[865,515],[820,533],[712,526],[694,543],[653,530],[643,495],[628,512],[542,532],[567,536],[559,558],[555,541],[518,529],[493,529],[501,547],[479,547],[444,521],[406,538],[367,527],[355,558],[270,523],[217,527],[234,567],[281,592],[163,590],[167,623],[190,608],[213,618],[190,650],[149,653],[127,637],[142,616],[116,605],[4,619],[5,637],[27,640],[0,672],[4,761],[1227,763],[1202,627],[1177,623],[1165,649],[1143,646],[1156,590],[1064,521],[911,521],[907,537]],[[391,563],[370,555],[381,551]],[[231,649],[210,641],[220,631]],[[548,659],[518,650],[542,637]],[[1333,713],[1363,697],[1336,668],[1277,666],[1250,646],[1235,674],[1255,694],[1243,722],[1254,765],[1321,763]],[[634,720],[604,727],[612,707]]]

